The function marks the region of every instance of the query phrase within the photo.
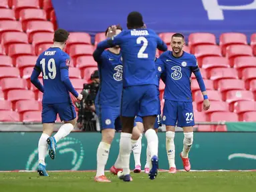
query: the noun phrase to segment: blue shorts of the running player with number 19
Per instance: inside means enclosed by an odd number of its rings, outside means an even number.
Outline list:
[[[41,113],[42,123],[55,123],[57,114],[61,121],[71,121],[76,119],[76,109],[73,103],[43,103],[43,110]]]

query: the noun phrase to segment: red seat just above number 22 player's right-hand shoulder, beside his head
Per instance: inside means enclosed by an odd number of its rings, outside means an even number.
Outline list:
[[[201,66],[204,57],[220,57],[221,49],[219,48],[218,45],[197,45],[195,47],[195,56],[197,57],[199,65]]]

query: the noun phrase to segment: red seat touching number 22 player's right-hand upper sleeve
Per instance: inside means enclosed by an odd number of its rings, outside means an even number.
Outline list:
[[[229,60],[226,57],[205,57],[202,60],[202,65],[199,65],[203,69],[209,71],[215,67],[227,68],[229,66]]]

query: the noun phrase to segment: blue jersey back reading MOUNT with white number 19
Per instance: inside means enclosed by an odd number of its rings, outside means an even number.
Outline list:
[[[50,47],[39,55],[37,62],[43,75],[42,103],[70,102],[70,93],[61,81],[61,69],[69,67],[70,57],[58,47]]]

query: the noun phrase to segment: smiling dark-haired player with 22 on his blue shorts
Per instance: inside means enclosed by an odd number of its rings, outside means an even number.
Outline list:
[[[183,150],[180,153],[184,169],[190,171],[188,152],[193,144],[193,99],[190,89],[190,76],[194,73],[202,91],[204,110],[208,110],[210,102],[202,75],[199,71],[195,55],[182,51],[184,36],[180,33],[172,35],[172,51],[165,51],[159,59],[165,66],[166,84],[164,89],[164,110],[162,123],[166,125],[166,151],[169,162],[169,173],[176,173],[174,161],[175,125],[184,131]]]

